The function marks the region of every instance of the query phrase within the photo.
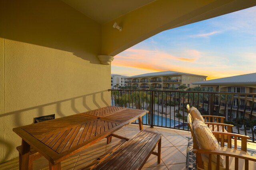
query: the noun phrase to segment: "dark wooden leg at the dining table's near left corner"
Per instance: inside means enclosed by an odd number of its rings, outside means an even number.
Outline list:
[[[30,145],[22,139],[21,147],[22,148],[21,148],[21,154],[20,154],[20,159],[19,159],[20,160],[19,168],[20,168],[20,170],[28,170]]]

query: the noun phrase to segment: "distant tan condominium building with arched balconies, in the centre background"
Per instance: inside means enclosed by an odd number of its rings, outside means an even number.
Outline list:
[[[158,90],[178,89],[180,85],[195,87],[193,82],[205,81],[207,76],[176,71],[162,71],[128,77],[128,86],[139,89],[155,88]]]

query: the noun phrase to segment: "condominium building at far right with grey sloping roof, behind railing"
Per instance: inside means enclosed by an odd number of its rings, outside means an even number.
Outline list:
[[[203,82],[194,82],[192,84],[200,85],[205,90],[215,92],[256,93],[256,73],[218,78]],[[218,98],[219,96],[216,95],[214,100],[214,110],[219,110],[219,113],[226,114],[226,108],[228,112],[232,110],[232,118],[236,118],[237,113],[238,117],[242,117],[244,112],[245,117],[249,118],[252,111],[252,119],[256,120],[256,99],[253,98],[252,95],[230,94],[228,95],[229,99],[227,104],[225,98],[220,98],[220,103]],[[232,98],[233,100],[230,98]],[[207,108],[207,104],[205,104],[204,108]]]

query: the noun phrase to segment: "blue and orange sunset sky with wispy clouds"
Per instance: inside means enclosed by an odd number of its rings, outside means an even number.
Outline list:
[[[207,80],[256,72],[256,7],[163,31],[114,57],[111,73],[178,71]]]

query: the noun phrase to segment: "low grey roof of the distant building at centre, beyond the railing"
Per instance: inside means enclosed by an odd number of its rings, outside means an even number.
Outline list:
[[[128,78],[140,78],[140,77],[152,77],[152,76],[168,76],[168,75],[180,75],[180,74],[186,74],[186,75],[191,75],[191,76],[202,76],[202,75],[197,75],[197,74],[189,74],[185,72],[176,72],[176,71],[161,71],[161,72],[151,72],[151,73],[146,73],[146,74],[140,74],[136,76],[130,76]],[[204,76],[207,77],[207,76]]]

